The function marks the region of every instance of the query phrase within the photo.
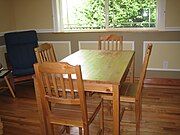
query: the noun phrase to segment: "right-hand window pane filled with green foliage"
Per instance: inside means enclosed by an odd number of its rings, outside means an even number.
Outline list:
[[[157,0],[109,0],[109,27],[156,27]]]

